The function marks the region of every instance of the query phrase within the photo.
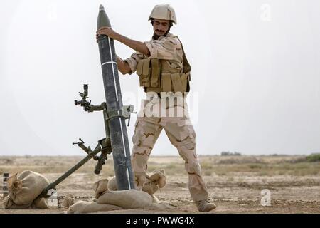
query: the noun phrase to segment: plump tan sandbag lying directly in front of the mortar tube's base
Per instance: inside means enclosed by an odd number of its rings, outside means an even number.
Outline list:
[[[107,191],[97,199],[98,204],[112,204],[123,209],[144,209],[152,204],[152,197],[138,190]]]

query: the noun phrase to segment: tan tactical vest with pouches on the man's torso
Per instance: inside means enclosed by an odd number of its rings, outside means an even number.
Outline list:
[[[182,51],[183,46],[181,43]],[[183,68],[170,66],[169,61],[158,58],[144,58],[138,62],[137,75],[140,86],[147,92],[181,92],[190,91],[191,66],[183,51]]]

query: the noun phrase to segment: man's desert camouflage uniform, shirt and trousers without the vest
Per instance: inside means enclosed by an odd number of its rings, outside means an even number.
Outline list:
[[[169,60],[171,66],[182,68],[183,53],[181,43],[176,36],[169,33],[166,37],[160,37],[159,40],[145,43],[151,56],[134,53],[130,58],[127,58],[125,61],[129,63],[131,73],[137,70],[137,62],[142,58],[166,59]],[[190,122],[186,100],[179,97],[174,98],[174,103],[170,103],[167,99],[152,98],[147,93],[147,99],[142,102],[142,109],[138,115],[132,137],[134,144],[132,170],[134,171],[135,185],[137,189],[142,189],[147,178],[147,162],[151,150],[161,130],[164,129],[171,144],[177,148],[179,155],[185,161],[191,197],[194,201],[206,200],[208,199],[208,190],[201,177],[201,167],[196,155],[196,133]],[[166,102],[164,102],[165,100]],[[180,111],[183,115],[168,115],[169,110]],[[150,115],[150,113],[153,115]],[[166,113],[166,115],[159,115],[160,113]]]

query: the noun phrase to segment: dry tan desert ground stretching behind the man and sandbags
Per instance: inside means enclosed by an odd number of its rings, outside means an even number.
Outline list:
[[[82,157],[0,157],[0,175],[32,170],[53,181]],[[210,200],[217,208],[208,213],[320,213],[320,162],[303,156],[199,156]],[[188,176],[180,157],[150,157],[148,172],[164,169],[167,185],[156,196],[176,206],[155,211],[127,209],[104,213],[198,213],[188,191]],[[58,185],[58,196],[93,197],[92,185],[114,175],[112,156],[100,175],[90,160]],[[2,181],[0,182],[0,190]],[[270,206],[262,206],[262,190],[270,191]],[[1,195],[0,195],[1,199]],[[77,200],[77,199],[76,199]],[[87,199],[90,200],[90,199]],[[0,208],[2,205],[0,204]],[[0,209],[0,214],[63,213],[67,209]]]

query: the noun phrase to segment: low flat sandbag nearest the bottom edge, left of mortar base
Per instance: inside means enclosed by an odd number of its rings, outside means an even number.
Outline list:
[[[122,209],[110,204],[97,204],[97,202],[78,201],[69,207],[67,213],[92,213],[92,212],[109,212],[117,209]]]

